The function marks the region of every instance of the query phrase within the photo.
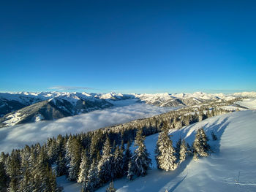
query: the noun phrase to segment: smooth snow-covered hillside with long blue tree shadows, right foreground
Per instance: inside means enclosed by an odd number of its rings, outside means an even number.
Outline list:
[[[246,103],[247,101],[243,101]],[[251,103],[253,103],[251,101]],[[118,191],[256,191],[256,111],[244,110],[208,118],[179,130],[171,130],[173,143],[181,137],[192,144],[195,131],[203,127],[210,138],[209,144],[214,153],[208,158],[187,158],[173,172],[156,168],[154,148],[158,134],[146,138],[146,147],[153,160],[152,169],[146,177],[128,181],[115,180]],[[211,139],[211,131],[218,140]],[[80,185],[70,183],[64,177],[58,182],[64,191],[80,191]],[[105,191],[108,185],[99,188]]]

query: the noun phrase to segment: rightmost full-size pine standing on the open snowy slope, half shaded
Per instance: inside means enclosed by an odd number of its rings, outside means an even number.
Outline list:
[[[208,156],[208,151],[210,150],[210,146],[208,145],[207,141],[208,141],[208,137],[206,137],[205,131],[203,131],[203,128],[199,128],[197,130],[197,134],[195,135],[195,141],[193,142],[195,160],[197,159],[197,155],[200,155],[203,157]]]

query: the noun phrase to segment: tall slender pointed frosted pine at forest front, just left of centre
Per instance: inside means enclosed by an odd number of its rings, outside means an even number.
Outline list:
[[[114,157],[113,154],[111,154],[111,150],[110,139],[107,137],[102,150],[102,158],[98,164],[99,177],[102,183],[107,183],[114,177]]]

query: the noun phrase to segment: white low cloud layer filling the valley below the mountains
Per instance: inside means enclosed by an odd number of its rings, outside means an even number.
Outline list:
[[[143,103],[129,103],[126,106],[122,106],[123,104],[117,105],[118,107],[97,110],[59,120],[1,128],[0,152],[10,152],[13,148],[21,148],[36,142],[43,143],[48,137],[56,137],[59,134],[78,134],[138,118],[148,118],[173,110],[170,107],[155,107]]]

